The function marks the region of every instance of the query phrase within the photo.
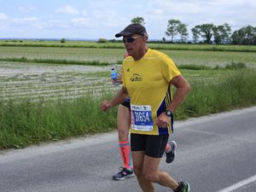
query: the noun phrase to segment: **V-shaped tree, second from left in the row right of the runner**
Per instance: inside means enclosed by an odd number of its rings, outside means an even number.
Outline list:
[[[202,24],[194,27],[195,30],[200,32],[201,38],[204,38],[205,43],[212,44],[212,35],[214,25],[212,23]]]

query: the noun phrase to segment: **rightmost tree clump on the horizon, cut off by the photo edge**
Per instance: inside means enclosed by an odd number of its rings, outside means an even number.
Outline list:
[[[244,26],[231,35],[232,44],[256,44],[256,27]]]

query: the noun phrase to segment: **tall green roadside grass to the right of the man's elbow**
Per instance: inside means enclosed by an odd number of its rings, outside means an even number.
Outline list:
[[[214,84],[191,81],[191,91],[177,109],[177,119],[247,108],[256,105],[256,71],[241,69],[226,73]]]

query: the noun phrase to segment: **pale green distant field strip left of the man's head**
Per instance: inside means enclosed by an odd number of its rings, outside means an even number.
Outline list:
[[[122,61],[125,49],[61,48],[61,47],[1,47],[1,59],[25,58],[49,61],[98,61],[114,63]]]

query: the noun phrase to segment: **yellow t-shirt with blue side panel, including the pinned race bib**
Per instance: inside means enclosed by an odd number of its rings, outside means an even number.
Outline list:
[[[172,59],[154,49],[139,61],[128,56],[123,61],[123,85],[131,98],[131,133],[166,135],[168,128],[154,125],[157,116],[164,112],[172,101],[170,81],[179,75]]]

